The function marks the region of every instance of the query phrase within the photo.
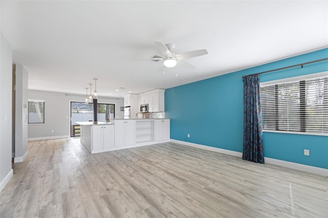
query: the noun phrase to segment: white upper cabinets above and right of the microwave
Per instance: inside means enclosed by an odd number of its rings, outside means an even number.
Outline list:
[[[164,93],[163,89],[141,93],[138,95],[138,104],[148,104],[148,112],[164,112]]]

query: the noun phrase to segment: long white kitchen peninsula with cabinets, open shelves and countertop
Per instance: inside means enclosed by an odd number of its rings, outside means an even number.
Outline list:
[[[80,142],[91,154],[170,141],[170,119],[115,119],[110,123],[76,124],[81,128]]]

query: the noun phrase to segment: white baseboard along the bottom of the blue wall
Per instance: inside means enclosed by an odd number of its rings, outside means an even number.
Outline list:
[[[182,144],[182,145],[187,145],[187,146],[191,146],[191,147],[196,147],[196,148],[200,148],[200,149],[204,149],[204,150],[215,151],[215,152],[219,152],[221,154],[231,155],[231,156],[235,156],[235,157],[239,157],[239,158],[242,157],[242,152],[238,152],[238,151],[221,149],[221,148],[211,147],[211,146],[207,146],[207,145],[200,145],[200,144],[195,144],[195,143],[191,143],[191,142],[179,141],[179,140],[175,140],[175,139],[171,139],[171,142],[174,142],[177,144]],[[283,166],[283,167],[287,167],[287,168],[291,168],[291,169],[297,169],[297,170],[301,170],[304,172],[311,172],[311,173],[315,173],[315,174],[318,174],[321,176],[328,177],[328,169],[324,169],[324,168],[320,168],[320,167],[309,166],[309,165],[298,164],[298,163],[294,163],[294,162],[282,161],[282,160],[278,160],[278,159],[265,158],[265,157],[264,157],[264,162],[268,163],[268,164]]]

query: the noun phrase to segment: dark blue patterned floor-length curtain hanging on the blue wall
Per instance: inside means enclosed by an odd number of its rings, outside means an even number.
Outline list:
[[[244,141],[242,159],[264,163],[260,76],[247,76],[244,82]]]

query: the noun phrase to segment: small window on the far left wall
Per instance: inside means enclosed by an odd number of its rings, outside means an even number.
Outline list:
[[[28,101],[28,123],[45,123],[45,101]]]

